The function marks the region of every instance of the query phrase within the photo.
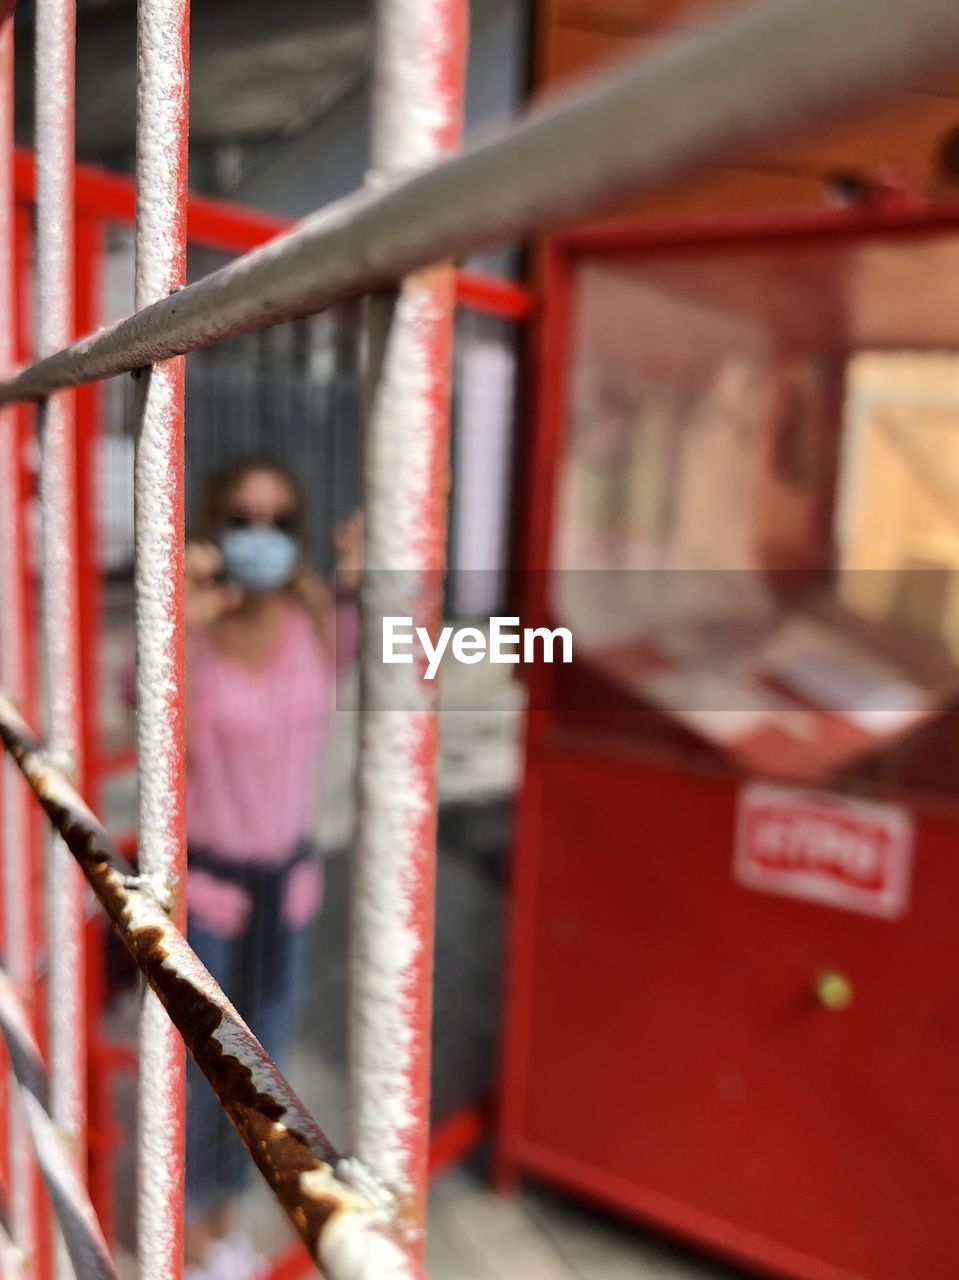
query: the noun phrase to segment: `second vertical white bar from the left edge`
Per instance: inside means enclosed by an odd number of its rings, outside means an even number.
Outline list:
[[[36,348],[42,358],[73,332],[74,0],[37,0],[35,120],[37,156]],[[60,768],[79,767],[76,440],[73,396],[37,407],[41,498],[41,622],[47,750]],[[50,1110],[86,1170],[86,1036],[83,1016],[83,878],[52,836],[46,864],[50,955]],[[58,1248],[58,1275],[72,1274]]]

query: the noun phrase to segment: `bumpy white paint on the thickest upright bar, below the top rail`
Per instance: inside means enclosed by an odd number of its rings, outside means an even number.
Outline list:
[[[351,1005],[351,1144],[401,1198],[417,1193],[426,1098],[415,1078],[419,1041],[429,1037],[429,1006],[417,1009],[430,938],[416,913],[431,893],[423,832],[433,813],[429,777],[435,690],[419,666],[383,663],[383,614],[423,616],[424,593],[438,590],[430,517],[435,449],[433,371],[424,326],[443,323],[430,288],[410,280],[389,324],[371,406],[366,456],[364,703],[360,741]],[[429,566],[429,567],[426,567]],[[425,877],[425,881],[424,881]],[[428,911],[428,914],[431,914]]]

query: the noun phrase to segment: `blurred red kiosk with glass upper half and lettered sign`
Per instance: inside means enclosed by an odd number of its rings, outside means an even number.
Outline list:
[[[959,209],[545,253],[498,1179],[959,1266]]]

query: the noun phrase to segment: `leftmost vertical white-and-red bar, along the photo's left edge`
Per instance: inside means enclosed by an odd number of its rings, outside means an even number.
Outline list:
[[[0,370],[15,361],[13,182],[13,12],[0,17]],[[20,433],[18,411],[0,411],[0,682],[23,701],[27,690],[24,631],[23,503],[20,500]],[[12,760],[3,764],[3,897],[5,963],[20,997],[32,993],[29,950],[29,820],[28,795]],[[36,1258],[37,1216],[33,1156],[24,1116],[15,1105],[15,1078],[8,1091],[6,1149],[10,1176],[10,1231],[24,1265]]]

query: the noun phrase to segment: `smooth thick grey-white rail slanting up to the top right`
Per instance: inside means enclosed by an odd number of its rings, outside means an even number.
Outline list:
[[[955,0],[773,0],[556,97],[494,138],[364,189],[0,381],[36,399],[321,311],[424,266],[594,212],[959,47]]]

